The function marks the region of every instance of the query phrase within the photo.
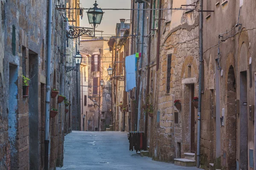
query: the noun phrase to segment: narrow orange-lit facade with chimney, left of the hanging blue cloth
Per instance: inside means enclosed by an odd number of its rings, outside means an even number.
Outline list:
[[[129,131],[131,121],[131,103],[128,93],[125,91],[125,57],[129,55],[129,34],[130,23],[125,23],[125,19],[120,19],[116,23],[116,36],[109,41],[109,49],[112,53],[112,96],[113,96],[113,130]],[[123,77],[123,79],[121,78]]]

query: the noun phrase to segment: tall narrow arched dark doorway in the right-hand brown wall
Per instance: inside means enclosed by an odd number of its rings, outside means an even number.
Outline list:
[[[230,65],[227,77],[226,149],[227,170],[236,169],[236,77]]]

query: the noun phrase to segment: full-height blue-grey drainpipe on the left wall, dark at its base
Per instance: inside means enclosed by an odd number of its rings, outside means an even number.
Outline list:
[[[46,104],[45,104],[45,136],[44,136],[44,169],[49,167],[50,153],[50,78],[51,78],[51,44],[52,44],[52,0],[48,0],[48,30],[47,30],[47,66],[46,66]]]

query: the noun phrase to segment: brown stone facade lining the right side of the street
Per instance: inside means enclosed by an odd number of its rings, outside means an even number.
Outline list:
[[[131,0],[135,9],[169,8],[131,11],[129,55],[142,57],[137,88],[129,93],[137,111],[131,109],[128,126],[146,133],[144,149],[154,160],[183,164],[179,158],[192,156],[195,165],[198,109],[192,100],[201,93],[201,168],[255,169],[255,17],[248,13],[254,7],[254,1],[204,1],[199,92],[199,1]]]

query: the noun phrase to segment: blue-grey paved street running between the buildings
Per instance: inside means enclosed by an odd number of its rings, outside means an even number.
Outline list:
[[[198,170],[152,161],[129,150],[125,132],[73,131],[65,136],[64,167],[57,170]]]

